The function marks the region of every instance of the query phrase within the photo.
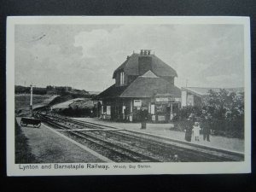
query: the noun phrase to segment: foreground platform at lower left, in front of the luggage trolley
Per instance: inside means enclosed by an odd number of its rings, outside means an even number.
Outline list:
[[[20,125],[20,118],[16,118]],[[96,154],[79,143],[73,143],[67,137],[62,137],[57,131],[48,125],[42,124],[40,128],[32,125],[20,126],[28,139],[28,145],[32,149],[38,163],[87,163],[106,162],[107,158]]]

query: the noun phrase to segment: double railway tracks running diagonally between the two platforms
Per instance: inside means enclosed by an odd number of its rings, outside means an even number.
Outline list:
[[[70,132],[68,134],[72,134],[73,137],[80,137],[80,139],[83,138],[87,143],[98,143],[94,144],[94,146],[97,147],[93,147],[93,145],[90,144],[90,148],[98,151],[98,148],[102,148],[100,149],[101,154],[107,155],[109,159],[118,162],[126,162],[129,160],[131,162],[218,162],[241,161],[244,158],[243,154],[240,153],[151,136],[141,132],[119,130],[118,128],[108,125],[98,125],[51,115],[41,115],[41,118],[46,123],[59,129],[72,130],[73,128],[71,127],[75,127],[76,130],[81,129],[81,131],[68,131]],[[84,127],[90,131],[85,131]],[[101,143],[99,141],[101,141]],[[103,149],[104,146],[108,146],[108,148]],[[119,149],[116,146],[119,146]],[[112,151],[116,151],[116,154]]]

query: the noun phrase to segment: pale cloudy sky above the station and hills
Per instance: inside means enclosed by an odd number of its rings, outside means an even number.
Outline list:
[[[240,25],[17,25],[15,84],[102,91],[127,55],[152,49],[178,87],[243,87]]]

